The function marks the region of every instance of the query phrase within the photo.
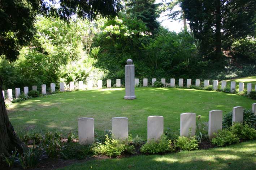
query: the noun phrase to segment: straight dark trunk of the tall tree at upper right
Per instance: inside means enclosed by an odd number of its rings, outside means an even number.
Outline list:
[[[221,1],[216,0],[216,59],[221,59]]]

